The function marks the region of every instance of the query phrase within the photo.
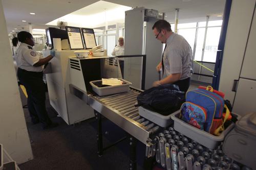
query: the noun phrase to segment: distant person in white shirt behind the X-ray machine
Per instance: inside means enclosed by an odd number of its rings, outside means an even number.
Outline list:
[[[124,55],[124,40],[123,37],[118,38],[118,44],[115,46],[113,52],[111,53],[112,56],[123,56]],[[118,58],[122,77],[123,77],[123,67],[124,61],[123,58]]]

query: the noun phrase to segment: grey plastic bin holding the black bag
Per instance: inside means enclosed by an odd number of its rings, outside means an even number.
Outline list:
[[[174,113],[179,113],[180,110],[177,110]],[[170,113],[171,114],[171,113]],[[139,115],[142,117],[145,117],[146,119],[150,120],[151,122],[161,126],[161,127],[167,127],[170,126],[174,121],[170,119],[169,115],[162,115],[157,112],[154,112],[152,110],[148,110],[142,106],[139,107]]]

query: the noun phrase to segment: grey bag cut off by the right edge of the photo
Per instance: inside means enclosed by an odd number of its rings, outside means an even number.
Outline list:
[[[256,169],[256,113],[248,113],[236,122],[226,136],[223,152],[242,164]]]

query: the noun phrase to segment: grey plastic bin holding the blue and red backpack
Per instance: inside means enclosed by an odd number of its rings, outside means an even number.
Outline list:
[[[224,140],[228,132],[230,132],[230,130],[234,127],[234,123],[231,123],[219,136],[215,136],[185,123],[179,118],[179,115],[180,113],[173,113],[170,115],[170,117],[174,120],[174,129],[209,149],[215,149],[220,142]],[[232,115],[238,117],[237,114],[232,113]]]

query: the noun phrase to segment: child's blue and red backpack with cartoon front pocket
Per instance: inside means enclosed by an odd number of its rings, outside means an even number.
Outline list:
[[[180,110],[181,119],[198,129],[214,134],[223,124],[224,95],[219,94],[214,92],[212,87],[187,91],[186,102]]]

